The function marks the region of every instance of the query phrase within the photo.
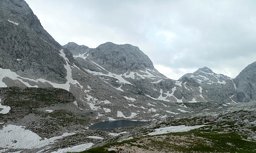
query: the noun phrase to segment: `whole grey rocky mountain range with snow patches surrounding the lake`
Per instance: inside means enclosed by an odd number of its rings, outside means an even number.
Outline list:
[[[182,118],[207,119],[192,125],[211,122],[228,109],[246,107],[247,117],[256,117],[254,105],[247,107],[256,100],[256,62],[234,79],[203,67],[172,80],[131,44],[61,46],[24,0],[0,1],[0,29],[0,152],[85,150],[142,136],[146,127],[189,125]],[[88,130],[113,120],[151,123],[122,137]]]

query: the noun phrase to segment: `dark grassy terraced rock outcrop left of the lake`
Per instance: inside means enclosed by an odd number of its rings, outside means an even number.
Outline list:
[[[83,117],[77,115],[79,112],[83,114],[75,109],[74,101],[76,98],[72,93],[58,88],[0,88],[0,105],[9,108],[5,114],[0,113],[0,122],[26,126],[40,136],[52,137],[67,131],[61,125],[72,131],[74,126],[73,120],[68,121],[70,117],[82,120]],[[86,123],[77,124],[87,127]]]

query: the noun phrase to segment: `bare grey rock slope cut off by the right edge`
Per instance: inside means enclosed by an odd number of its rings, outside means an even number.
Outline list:
[[[246,66],[233,81],[239,102],[256,100],[256,62]]]

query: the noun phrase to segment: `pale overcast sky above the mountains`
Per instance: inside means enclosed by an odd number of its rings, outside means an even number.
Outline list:
[[[256,61],[256,0],[26,0],[61,45],[138,46],[170,79],[207,66],[236,77]]]

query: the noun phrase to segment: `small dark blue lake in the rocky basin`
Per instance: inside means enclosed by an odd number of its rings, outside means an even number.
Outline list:
[[[102,121],[91,125],[89,129],[91,130],[103,130],[112,131],[115,128],[129,127],[135,125],[143,125],[148,123],[147,121],[128,121],[128,120],[118,120],[118,121]]]

